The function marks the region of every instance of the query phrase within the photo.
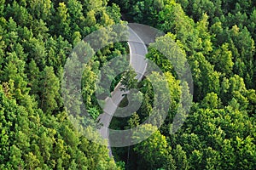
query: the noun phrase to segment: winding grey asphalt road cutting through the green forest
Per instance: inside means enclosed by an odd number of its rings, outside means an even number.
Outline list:
[[[137,80],[141,81],[143,74],[147,68],[147,59],[145,55],[148,53],[148,49],[145,46],[143,40],[137,35],[135,31],[128,26],[129,29],[129,39],[128,45],[130,48],[130,65],[137,72]],[[129,92],[120,91],[121,84],[119,83],[111,93],[111,98],[105,99],[105,105],[103,108],[103,113],[98,117],[100,123],[102,123],[102,128],[99,129],[99,132],[102,135],[103,139],[108,139],[109,132],[108,127],[112,120],[113,114],[118,108],[120,101],[124,98],[123,94]],[[109,156],[112,155],[112,150],[109,144],[108,139],[108,150]]]

